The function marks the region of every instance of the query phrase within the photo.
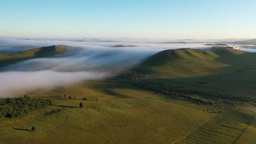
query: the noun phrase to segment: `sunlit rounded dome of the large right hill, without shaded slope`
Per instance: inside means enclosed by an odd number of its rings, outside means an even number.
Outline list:
[[[161,78],[177,78],[212,74],[210,69],[227,66],[215,61],[219,55],[202,50],[166,50],[157,53],[135,69]]]

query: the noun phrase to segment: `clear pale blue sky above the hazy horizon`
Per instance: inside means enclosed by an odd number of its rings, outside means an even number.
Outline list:
[[[0,0],[0,36],[256,38],[256,0]]]

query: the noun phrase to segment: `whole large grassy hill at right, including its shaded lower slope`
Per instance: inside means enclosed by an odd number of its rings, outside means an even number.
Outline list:
[[[159,87],[168,90],[256,98],[255,62],[255,53],[232,48],[166,50],[149,57],[134,71],[153,76]]]

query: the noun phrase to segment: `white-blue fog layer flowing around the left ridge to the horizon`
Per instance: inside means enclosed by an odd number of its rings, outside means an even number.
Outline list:
[[[0,54],[41,46],[65,45],[66,52],[0,67],[0,97],[18,91],[54,88],[100,80],[127,71],[149,55],[166,49],[208,49],[204,43],[160,43],[134,39],[12,39],[0,38]],[[115,45],[136,45],[114,47]]]

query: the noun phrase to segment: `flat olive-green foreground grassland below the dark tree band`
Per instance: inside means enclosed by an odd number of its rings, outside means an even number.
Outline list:
[[[1,144],[244,144],[255,132],[246,107],[196,104],[130,84],[90,81],[30,96],[44,94],[54,106],[2,120]]]

